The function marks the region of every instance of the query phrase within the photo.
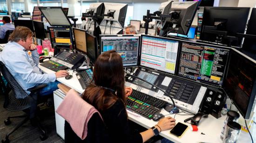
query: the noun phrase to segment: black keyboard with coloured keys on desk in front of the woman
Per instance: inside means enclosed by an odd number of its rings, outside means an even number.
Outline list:
[[[159,113],[167,102],[152,97],[140,91],[133,90],[126,99],[126,108],[134,111],[143,117],[151,119],[155,113]]]

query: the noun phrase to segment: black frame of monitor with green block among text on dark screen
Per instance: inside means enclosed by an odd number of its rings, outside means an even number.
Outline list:
[[[226,47],[226,46],[220,46],[220,45],[212,45],[212,44],[205,44],[205,43],[198,43],[198,42],[193,42],[193,41],[187,41],[187,40],[181,40],[180,41],[180,50],[179,50],[179,58],[177,59],[177,64],[180,65],[180,55],[181,55],[181,52],[182,52],[182,44],[183,43],[189,43],[189,44],[195,44],[195,45],[203,45],[203,46],[211,46],[211,47],[215,47],[215,48],[219,48],[219,49],[224,49],[224,50],[229,50],[229,54],[228,54],[228,58],[227,58],[227,62],[226,62],[226,67],[225,67],[225,70],[224,70],[224,73],[223,73],[223,81],[222,81],[222,85],[219,86],[219,85],[216,85],[216,84],[212,84],[212,83],[209,83],[209,82],[203,82],[203,81],[197,81],[197,80],[193,80],[193,79],[190,79],[190,78],[185,78],[181,75],[179,75],[179,67],[177,66],[177,71],[176,71],[176,76],[179,77],[179,78],[182,78],[182,79],[186,79],[186,80],[189,80],[189,81],[192,81],[192,82],[195,82],[197,84],[201,84],[201,85],[204,85],[204,86],[212,86],[214,88],[222,88],[223,87],[223,84],[225,82],[225,78],[227,76],[227,71],[228,71],[228,67],[229,67],[229,59],[230,59],[230,47]]]

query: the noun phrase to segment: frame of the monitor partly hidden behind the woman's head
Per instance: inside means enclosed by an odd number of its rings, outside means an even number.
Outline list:
[[[99,44],[99,55],[101,54],[101,37],[139,37],[138,39],[138,49],[137,49],[137,65],[123,65],[123,67],[137,67],[139,59],[139,51],[141,46],[141,36],[139,34],[115,34],[115,35],[100,35],[100,44]]]

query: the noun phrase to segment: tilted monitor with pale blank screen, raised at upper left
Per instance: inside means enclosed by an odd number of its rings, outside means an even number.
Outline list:
[[[72,26],[62,7],[39,7],[51,26]]]

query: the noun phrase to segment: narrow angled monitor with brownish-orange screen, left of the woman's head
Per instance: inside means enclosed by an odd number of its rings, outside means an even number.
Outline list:
[[[86,30],[73,28],[75,50],[87,55]]]

